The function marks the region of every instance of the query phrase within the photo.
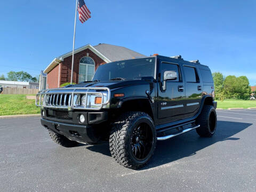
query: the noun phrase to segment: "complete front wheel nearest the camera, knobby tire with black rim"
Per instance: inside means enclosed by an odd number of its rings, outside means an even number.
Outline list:
[[[156,130],[151,117],[143,112],[122,114],[111,128],[109,147],[115,160],[131,169],[145,165],[156,147]]]

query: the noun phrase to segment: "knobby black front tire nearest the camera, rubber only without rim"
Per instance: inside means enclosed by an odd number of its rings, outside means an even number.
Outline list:
[[[151,149],[143,161],[134,158],[130,145],[133,130],[140,123],[147,123],[153,135]],[[139,169],[145,165],[153,155],[156,147],[156,130],[151,117],[140,111],[128,111],[122,114],[111,126],[109,137],[111,156],[119,164],[130,169]]]

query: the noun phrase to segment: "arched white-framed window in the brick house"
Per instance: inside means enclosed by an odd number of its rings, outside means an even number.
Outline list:
[[[79,62],[78,82],[92,81],[94,75],[95,63],[90,57],[83,57]]]

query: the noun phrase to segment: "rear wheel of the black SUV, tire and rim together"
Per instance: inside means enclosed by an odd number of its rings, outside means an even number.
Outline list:
[[[200,125],[196,129],[196,132],[201,137],[212,137],[217,127],[217,114],[213,106],[205,105],[199,117],[197,123]]]

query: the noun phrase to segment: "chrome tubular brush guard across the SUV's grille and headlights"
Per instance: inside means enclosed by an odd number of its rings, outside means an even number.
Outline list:
[[[78,105],[77,100],[85,97],[85,105]],[[89,99],[101,97],[101,103],[91,106]],[[41,108],[100,110],[108,108],[110,90],[108,87],[67,87],[40,91],[36,94],[36,106]],[[82,102],[82,101],[81,101]],[[89,102],[90,105],[87,105]]]

